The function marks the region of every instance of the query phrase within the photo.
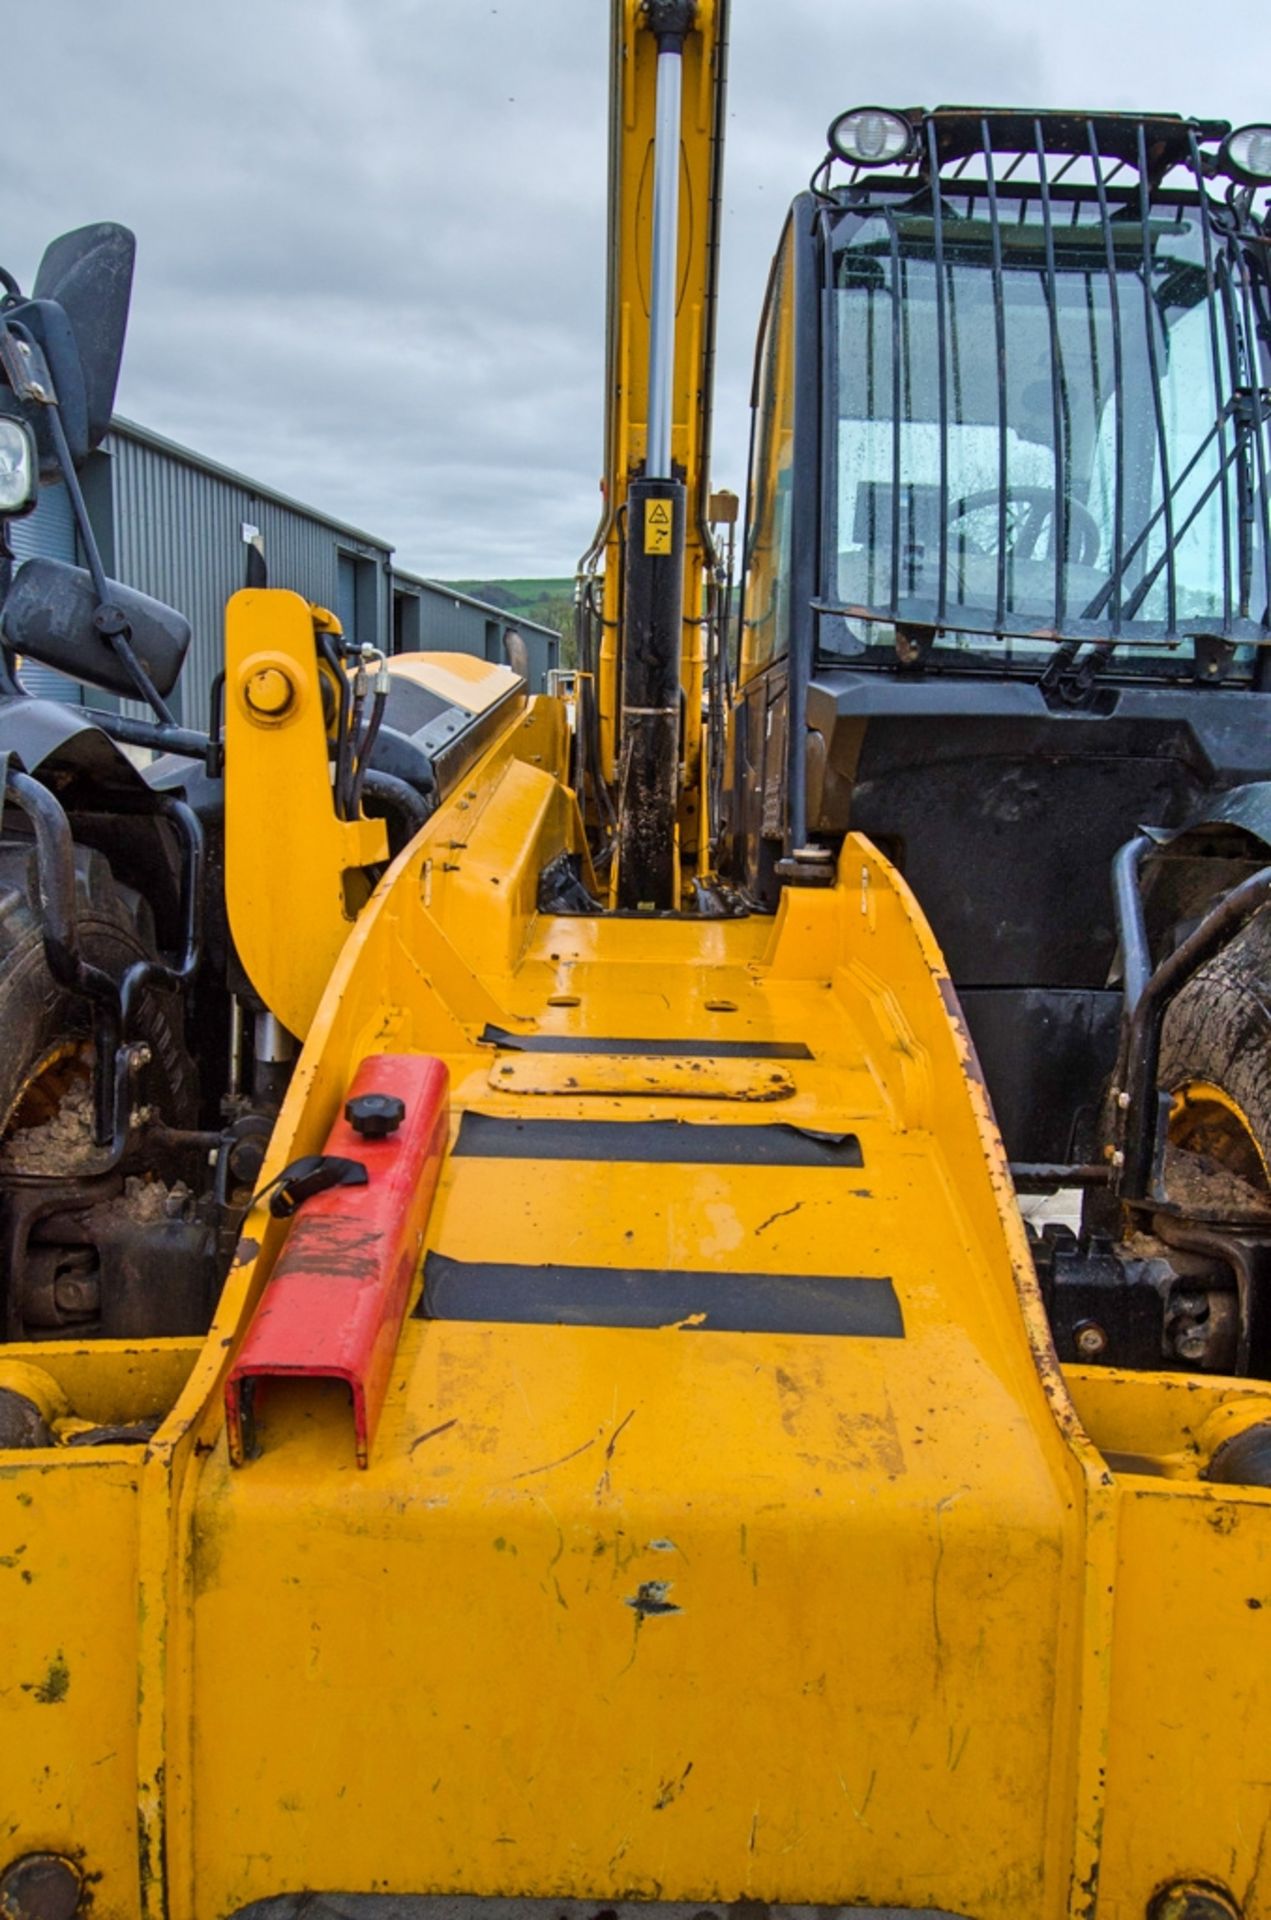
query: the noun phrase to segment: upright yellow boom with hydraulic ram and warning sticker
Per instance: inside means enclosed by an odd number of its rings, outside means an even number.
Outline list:
[[[605,513],[580,586],[588,609],[603,593],[595,787],[618,787],[624,906],[676,906],[682,866],[705,872],[708,858],[707,522],[726,65],[726,0],[612,0]]]

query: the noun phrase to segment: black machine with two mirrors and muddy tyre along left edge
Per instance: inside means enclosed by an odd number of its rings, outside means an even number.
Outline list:
[[[0,269],[0,1340],[202,1332],[294,1054],[227,927],[219,687],[211,733],[175,724],[190,626],[106,578],[79,482],[132,257],[98,225],[46,250],[31,298]],[[67,488],[84,566],[15,566],[40,484]],[[444,785],[415,708],[445,703],[371,693],[361,649],[324,647],[336,795],[396,851]],[[33,697],[25,659],[113,710]]]

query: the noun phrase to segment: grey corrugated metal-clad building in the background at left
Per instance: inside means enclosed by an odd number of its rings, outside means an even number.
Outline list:
[[[355,639],[386,653],[419,649],[476,653],[503,660],[515,628],[530,655],[530,684],[541,691],[559,664],[561,636],[515,620],[499,607],[419,574],[396,572],[388,541],[332,520],[259,486],[159,434],[115,419],[83,474],[84,501],[106,572],[190,620],[194,639],[169,705],[182,726],[209,722],[211,682],[225,657],[225,603],[246,584],[248,543],[259,540],[275,588],[292,588],[330,607]],[[65,488],[42,488],[25,520],[12,522],[19,559],[46,553],[81,561]],[[23,668],[33,691],[111,707],[106,693],[79,687],[48,668]],[[144,712],[127,703],[129,712]]]

